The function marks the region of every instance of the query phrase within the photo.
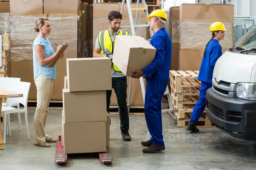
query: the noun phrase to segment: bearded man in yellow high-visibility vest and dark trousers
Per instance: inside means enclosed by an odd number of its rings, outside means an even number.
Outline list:
[[[116,35],[129,35],[128,32],[121,31],[122,14],[119,11],[111,11],[108,14],[109,29],[99,32],[96,39],[93,57],[107,57],[104,54],[108,49],[112,54],[115,46]],[[122,138],[125,141],[131,141],[129,130],[129,115],[127,107],[127,77],[112,62],[112,88],[116,93],[119,107],[120,129]],[[107,111],[109,113],[110,99],[112,90],[107,91]]]

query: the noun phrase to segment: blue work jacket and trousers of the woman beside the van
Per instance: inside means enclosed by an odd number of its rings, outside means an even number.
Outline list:
[[[195,104],[191,122],[197,123],[206,107],[206,91],[212,87],[212,74],[215,63],[221,57],[222,50],[218,40],[212,39],[206,47],[205,55],[201,62],[198,80],[201,81],[200,98]]]

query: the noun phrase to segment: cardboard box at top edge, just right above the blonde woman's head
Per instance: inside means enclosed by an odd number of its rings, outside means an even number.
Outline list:
[[[44,14],[78,13],[79,0],[44,0]]]

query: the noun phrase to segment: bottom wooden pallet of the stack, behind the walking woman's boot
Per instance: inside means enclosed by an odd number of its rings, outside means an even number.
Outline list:
[[[190,116],[185,114],[185,119],[179,119],[177,117],[177,127],[186,127],[189,123]],[[203,116],[200,117],[198,120],[198,123],[196,124],[197,127],[215,127],[212,125],[212,122],[206,117]]]

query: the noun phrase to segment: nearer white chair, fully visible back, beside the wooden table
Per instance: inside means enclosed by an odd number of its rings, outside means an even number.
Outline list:
[[[27,114],[27,103],[28,103],[28,96],[29,96],[29,88],[31,83],[29,82],[16,82],[13,83],[8,90],[18,92],[23,94],[23,97],[14,97],[14,98],[7,98],[7,105],[2,107],[2,115],[3,115],[3,143],[6,144],[6,116],[9,116],[10,113],[25,113],[25,121],[26,121],[26,130],[29,137],[29,125],[28,125],[28,114]],[[24,109],[16,109],[13,108],[12,105],[18,103],[24,106]],[[10,130],[10,123],[8,122],[9,126],[9,133],[11,136]]]

